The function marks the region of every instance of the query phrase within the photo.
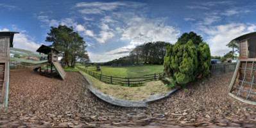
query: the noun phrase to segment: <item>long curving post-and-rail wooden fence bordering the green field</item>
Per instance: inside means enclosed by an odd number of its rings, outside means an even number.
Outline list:
[[[142,77],[115,77],[115,76],[107,76],[103,74],[98,74],[96,72],[92,72],[90,70],[86,70],[85,68],[76,67],[83,72],[86,72],[90,76],[96,77],[100,81],[103,81],[105,83],[110,84],[121,84],[123,86],[141,86],[142,84],[148,82],[148,81],[157,81],[159,74],[149,74],[144,75]],[[163,73],[160,73],[163,75]]]

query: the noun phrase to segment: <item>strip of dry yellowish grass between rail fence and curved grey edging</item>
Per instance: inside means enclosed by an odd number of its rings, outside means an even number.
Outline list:
[[[75,68],[74,70],[79,70]],[[81,71],[81,70],[80,70]],[[82,72],[82,71],[81,71]],[[130,87],[121,86],[119,84],[107,84],[99,81],[95,77],[82,72],[90,81],[92,81],[92,86],[102,93],[109,95],[110,97],[115,97],[116,99],[123,100],[145,100],[149,95],[155,95],[160,93],[166,93],[169,89],[162,83],[162,81],[151,81],[145,83],[144,86]]]

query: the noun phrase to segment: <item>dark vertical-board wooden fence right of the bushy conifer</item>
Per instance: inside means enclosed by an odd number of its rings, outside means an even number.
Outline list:
[[[216,63],[210,65],[210,76],[217,76],[235,71],[237,63]]]

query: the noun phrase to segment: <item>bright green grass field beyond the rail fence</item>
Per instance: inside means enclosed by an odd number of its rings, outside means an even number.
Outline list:
[[[80,65],[79,65],[80,66]],[[80,66],[85,68],[84,66]],[[103,75],[115,76],[115,77],[141,77],[148,74],[158,74],[163,72],[163,65],[143,65],[143,66],[130,66],[130,67],[107,67],[101,66],[101,71]],[[96,67],[87,67],[87,70],[98,72]],[[98,72],[101,73],[101,72]]]

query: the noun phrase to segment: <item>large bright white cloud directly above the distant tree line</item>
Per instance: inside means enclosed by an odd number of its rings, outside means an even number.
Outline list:
[[[164,25],[160,20],[134,17],[128,22],[121,40],[131,40],[132,45],[145,42],[176,42],[180,30],[173,26]]]

